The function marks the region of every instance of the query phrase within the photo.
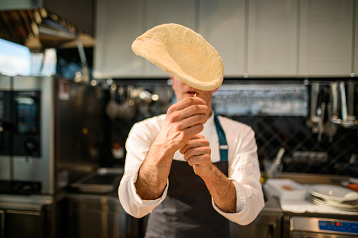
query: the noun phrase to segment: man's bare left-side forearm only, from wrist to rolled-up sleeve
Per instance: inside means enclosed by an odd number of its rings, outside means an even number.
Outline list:
[[[136,192],[143,200],[155,200],[162,196],[172,165],[173,154],[153,143],[146,159],[139,168]]]

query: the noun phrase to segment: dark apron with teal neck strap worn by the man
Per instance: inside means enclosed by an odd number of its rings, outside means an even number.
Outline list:
[[[227,176],[228,146],[216,115],[220,161],[214,163]],[[146,237],[229,237],[229,220],[212,207],[210,192],[186,161],[172,161],[167,197],[149,215]]]

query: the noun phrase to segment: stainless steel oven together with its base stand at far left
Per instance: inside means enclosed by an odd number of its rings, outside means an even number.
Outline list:
[[[0,236],[65,237],[65,188],[100,167],[101,88],[0,77]]]

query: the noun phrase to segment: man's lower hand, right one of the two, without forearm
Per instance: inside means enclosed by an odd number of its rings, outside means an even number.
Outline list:
[[[211,149],[209,141],[203,135],[195,135],[180,150],[184,154],[184,159],[193,166],[194,172],[202,177],[210,175],[212,170]]]

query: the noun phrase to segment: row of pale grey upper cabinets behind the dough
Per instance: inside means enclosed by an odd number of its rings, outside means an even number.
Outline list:
[[[96,9],[98,79],[168,77],[132,43],[170,22],[217,49],[224,77],[350,77],[358,68],[354,0],[102,0]]]

